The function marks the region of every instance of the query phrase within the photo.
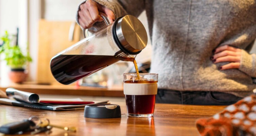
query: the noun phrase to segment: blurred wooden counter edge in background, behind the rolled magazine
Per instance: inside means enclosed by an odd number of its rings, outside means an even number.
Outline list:
[[[83,95],[83,96],[109,96],[124,97],[122,86],[113,86],[111,88],[97,88],[76,85],[39,85],[39,84],[8,84],[1,85],[0,89],[5,91],[6,88],[15,88],[20,91],[36,93],[36,94],[55,94],[55,95]]]

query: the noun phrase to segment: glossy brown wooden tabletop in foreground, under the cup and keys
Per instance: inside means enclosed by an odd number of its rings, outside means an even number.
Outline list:
[[[121,118],[93,119],[84,118],[83,110],[53,112],[0,105],[0,125],[38,116],[49,118],[52,124],[77,127],[76,133],[53,128],[50,136],[197,136],[195,121],[210,117],[225,107],[156,104],[154,117],[135,118],[127,117],[124,102],[114,104],[121,106]],[[46,134],[37,136],[41,135]]]

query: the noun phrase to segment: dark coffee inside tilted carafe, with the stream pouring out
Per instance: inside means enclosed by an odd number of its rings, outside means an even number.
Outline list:
[[[134,58],[105,55],[59,55],[51,60],[50,67],[52,75],[58,82],[70,84],[119,60],[135,62],[134,66],[138,72]]]

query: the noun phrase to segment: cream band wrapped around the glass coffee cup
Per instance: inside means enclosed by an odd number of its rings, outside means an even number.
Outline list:
[[[125,95],[156,95],[157,83],[124,83]]]

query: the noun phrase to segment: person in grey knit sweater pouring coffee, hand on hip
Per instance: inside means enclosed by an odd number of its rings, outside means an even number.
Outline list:
[[[103,12],[138,17],[146,10],[158,73],[156,102],[228,105],[253,94],[256,55],[255,0],[87,0],[77,23],[98,30]]]

